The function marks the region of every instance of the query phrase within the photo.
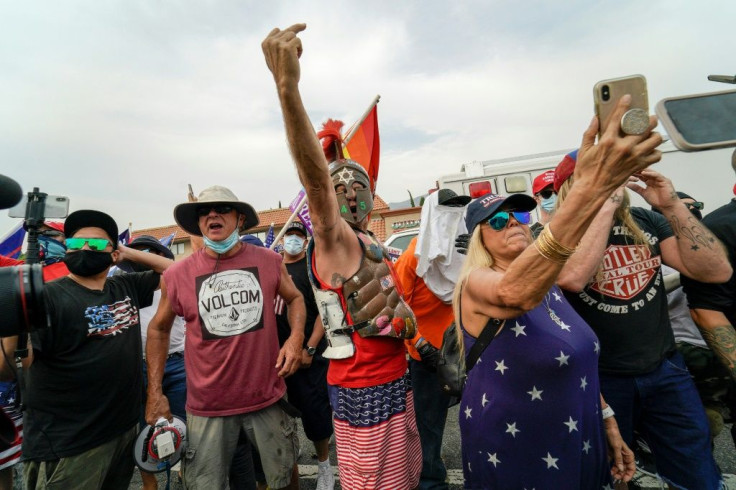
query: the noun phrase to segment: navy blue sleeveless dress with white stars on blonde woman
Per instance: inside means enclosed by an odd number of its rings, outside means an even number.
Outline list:
[[[475,339],[463,335],[467,353]],[[460,402],[465,488],[607,488],[599,352],[557,286],[506,320]]]

